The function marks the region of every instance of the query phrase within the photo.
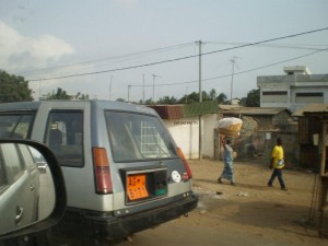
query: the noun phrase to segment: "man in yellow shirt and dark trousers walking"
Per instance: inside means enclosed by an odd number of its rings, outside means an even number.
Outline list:
[[[284,167],[284,155],[283,155],[283,148],[282,148],[282,141],[281,138],[277,138],[277,145],[274,145],[272,152],[271,152],[271,162],[270,162],[270,168],[273,168],[272,175],[270,180],[268,181],[268,186],[272,187],[272,184],[278,177],[280,188],[282,190],[286,190],[283,178],[282,178],[282,168]]]

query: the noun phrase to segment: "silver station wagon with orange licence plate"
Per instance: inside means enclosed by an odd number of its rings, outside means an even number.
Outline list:
[[[62,227],[122,238],[197,207],[188,163],[149,107],[106,101],[0,104],[0,138],[42,141],[55,153],[68,196]]]

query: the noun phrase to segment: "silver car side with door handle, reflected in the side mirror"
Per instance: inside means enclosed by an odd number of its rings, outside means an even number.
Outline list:
[[[0,233],[38,220],[39,172],[25,144],[0,145]]]

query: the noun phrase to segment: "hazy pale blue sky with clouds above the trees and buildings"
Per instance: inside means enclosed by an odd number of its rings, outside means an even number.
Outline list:
[[[328,73],[327,10],[327,0],[0,0],[0,69],[30,81],[35,99],[58,87],[112,101],[200,89],[241,98],[286,66]]]

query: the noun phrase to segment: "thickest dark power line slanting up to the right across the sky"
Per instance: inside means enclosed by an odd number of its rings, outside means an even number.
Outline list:
[[[225,48],[225,49],[220,49],[220,50],[213,50],[213,51],[203,52],[203,54],[201,54],[201,56],[213,55],[213,54],[229,51],[229,50],[233,50],[233,49],[245,48],[245,47],[249,47],[249,46],[255,46],[255,45],[265,44],[265,43],[274,42],[274,40],[286,39],[286,38],[291,38],[291,37],[296,37],[296,36],[301,36],[301,35],[317,33],[317,32],[327,31],[327,30],[328,30],[328,27],[325,27],[325,28],[320,28],[320,30],[307,31],[307,32],[303,32],[303,33],[298,33],[298,34],[292,34],[292,35],[282,36],[282,37],[276,37],[276,38],[266,39],[266,40],[261,40],[261,42],[256,42],[256,43],[250,43],[250,44],[244,44],[244,45],[239,45],[239,46],[236,46],[236,47],[231,47],[231,48]],[[59,79],[68,79],[68,78],[74,78],[74,77],[84,77],[84,75],[93,75],[93,74],[99,74],[99,73],[116,72],[116,71],[122,71],[122,70],[128,70],[128,69],[136,69],[136,68],[143,68],[143,67],[150,67],[150,66],[155,66],[155,65],[168,63],[168,62],[174,62],[174,61],[179,61],[179,60],[195,58],[195,57],[198,57],[198,56],[200,56],[200,55],[185,56],[185,57],[179,57],[179,58],[174,58],[174,59],[155,61],[155,62],[151,62],[151,63],[134,65],[134,66],[129,66],[129,67],[124,67],[124,68],[96,71],[96,72],[85,72],[85,73],[78,73],[78,74],[70,74],[70,75],[62,75],[62,77],[51,77],[51,78],[44,78],[44,79],[33,79],[33,80],[27,80],[27,81],[32,82],[32,81],[59,80]]]

